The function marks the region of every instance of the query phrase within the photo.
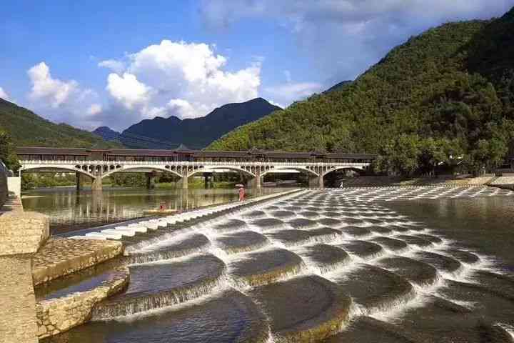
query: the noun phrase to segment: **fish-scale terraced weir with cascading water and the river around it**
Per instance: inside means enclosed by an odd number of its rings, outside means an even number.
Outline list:
[[[373,192],[298,192],[131,242],[129,288],[46,342],[514,342],[513,193]]]

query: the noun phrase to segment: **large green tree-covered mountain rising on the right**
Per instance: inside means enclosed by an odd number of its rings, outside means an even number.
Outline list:
[[[391,50],[366,73],[242,126],[208,149],[381,154],[376,169],[428,172],[458,159],[503,162],[514,134],[514,9],[444,24]]]

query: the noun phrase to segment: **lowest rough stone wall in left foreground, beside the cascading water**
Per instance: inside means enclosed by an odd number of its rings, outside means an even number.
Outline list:
[[[120,269],[117,277],[103,282],[87,292],[76,292],[66,297],[43,300],[36,304],[38,337],[54,336],[91,319],[94,305],[129,284],[129,269]]]

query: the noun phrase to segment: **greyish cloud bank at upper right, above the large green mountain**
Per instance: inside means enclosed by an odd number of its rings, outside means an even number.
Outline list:
[[[213,28],[267,17],[286,26],[321,76],[353,79],[393,46],[446,21],[489,19],[513,0],[203,0],[201,13]]]

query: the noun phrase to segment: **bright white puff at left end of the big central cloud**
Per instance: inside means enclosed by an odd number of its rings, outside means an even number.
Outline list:
[[[124,73],[123,76],[109,74],[106,90],[126,109],[133,109],[136,105],[144,106],[151,99],[151,87],[129,73]]]

